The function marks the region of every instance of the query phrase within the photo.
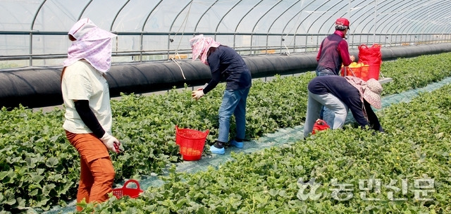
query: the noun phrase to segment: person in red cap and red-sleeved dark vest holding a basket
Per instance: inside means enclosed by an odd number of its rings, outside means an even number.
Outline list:
[[[318,62],[316,76],[340,75],[341,65],[348,66],[355,60],[354,56],[350,56],[345,40],[349,30],[349,20],[346,18],[335,20],[335,32],[323,39],[319,46],[318,55],[316,56],[316,61]],[[323,107],[319,118],[326,121],[328,125],[332,125],[333,111]]]

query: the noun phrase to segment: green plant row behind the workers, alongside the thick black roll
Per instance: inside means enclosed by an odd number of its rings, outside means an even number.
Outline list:
[[[384,85],[383,93],[423,87],[451,76],[450,58],[451,53],[442,53],[383,63],[383,74],[394,80]],[[301,125],[307,83],[313,77],[314,73],[305,73],[271,82],[255,81],[248,98],[246,138]],[[175,125],[210,130],[207,144],[211,144],[218,135],[217,112],[224,87],[220,84],[199,101],[190,99],[187,87],[183,92],[171,90],[162,95],[124,94],[121,101],[111,101],[113,134],[126,149],[123,155],[112,155],[116,182],[159,173],[168,163],[179,162]],[[58,109],[49,113],[23,107],[1,109],[0,211],[16,212],[26,207],[48,210],[74,199],[80,163],[64,135],[63,114]]]

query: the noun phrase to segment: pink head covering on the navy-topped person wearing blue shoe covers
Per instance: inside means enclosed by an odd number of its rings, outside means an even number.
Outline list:
[[[190,39],[190,45],[192,48],[192,61],[195,61],[200,56],[200,61],[205,65],[209,65],[206,61],[206,53],[211,47],[217,48],[220,43],[214,41],[211,37],[204,37],[204,34],[199,34]]]

